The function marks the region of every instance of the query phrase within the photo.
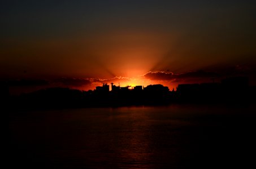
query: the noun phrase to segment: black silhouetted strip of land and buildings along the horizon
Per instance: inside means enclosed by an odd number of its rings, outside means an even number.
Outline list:
[[[46,88],[19,96],[10,96],[8,84],[1,84],[1,103],[7,109],[55,109],[115,107],[168,104],[253,104],[256,86],[249,86],[248,77],[229,77],[220,83],[179,84],[169,90],[162,84],[149,86],[116,86],[103,83],[96,90]]]

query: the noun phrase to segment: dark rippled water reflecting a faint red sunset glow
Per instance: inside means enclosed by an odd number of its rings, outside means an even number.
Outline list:
[[[255,108],[88,108],[11,114],[9,168],[254,168]]]

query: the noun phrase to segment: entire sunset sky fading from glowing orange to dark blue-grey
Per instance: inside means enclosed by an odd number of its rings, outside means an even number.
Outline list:
[[[1,1],[0,78],[256,84],[255,1]]]

